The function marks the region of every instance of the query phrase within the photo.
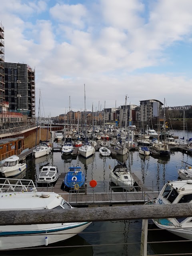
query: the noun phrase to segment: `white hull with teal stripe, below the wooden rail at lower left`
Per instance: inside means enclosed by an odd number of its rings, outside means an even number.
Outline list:
[[[0,241],[1,241],[0,249],[8,250],[8,249],[16,249],[16,248],[42,246],[42,245],[45,245],[46,237],[48,239],[48,244],[63,241],[82,232],[86,227],[90,225],[90,223],[91,222],[80,222],[80,223],[70,223],[70,224],[66,223],[64,224],[66,226],[60,223],[59,224],[6,226],[7,232],[13,232],[17,235],[15,236],[0,235]],[[50,226],[52,226],[52,228],[48,228]],[[36,229],[37,227],[38,229]],[[4,232],[5,226],[0,226],[0,230]],[[37,232],[40,234],[37,234]],[[19,236],[18,234],[26,234],[26,235]],[[30,236],[30,234],[33,234],[33,235]]]

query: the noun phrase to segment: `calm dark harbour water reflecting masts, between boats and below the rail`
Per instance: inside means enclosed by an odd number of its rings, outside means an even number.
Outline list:
[[[183,137],[182,131],[174,131],[174,135]],[[188,135],[192,137],[192,134]],[[62,142],[59,142],[59,144]],[[55,146],[57,143],[55,143]],[[122,156],[118,156],[122,161]],[[126,160],[128,161],[128,160]],[[177,169],[181,167],[181,161],[192,164],[192,156],[179,151],[171,152],[170,157],[154,158],[152,156],[142,157],[138,151],[130,152],[131,170],[143,181],[145,186],[158,190],[167,180],[178,178]],[[81,156],[72,159],[71,156],[61,157],[61,152],[54,152],[53,158],[41,158],[35,160],[30,157],[26,160],[27,171],[25,178],[35,181],[39,174],[39,167],[47,162],[58,166],[60,172],[68,171],[68,167],[79,164],[85,171],[86,180],[89,182],[94,179],[98,182],[97,191],[108,191],[110,186],[109,165],[113,168],[117,164],[116,158],[101,157],[99,152],[95,156],[85,160]],[[118,213],[117,213],[118,214]],[[134,221],[115,221],[115,222],[95,222],[92,223],[83,233],[57,244],[57,246],[72,246],[71,248],[46,248],[19,250],[16,252],[6,252],[1,255],[110,255],[126,256],[140,255],[140,234],[141,220]],[[149,227],[156,228],[149,220]],[[94,232],[94,233],[90,233]],[[179,237],[166,231],[149,231],[148,241],[180,240]],[[129,244],[134,243],[134,244]],[[138,244],[137,244],[138,243]],[[95,246],[95,245],[100,246]],[[118,244],[118,245],[114,245]],[[87,247],[74,247],[87,245]],[[187,253],[191,252],[192,242],[177,242],[172,244],[148,244],[148,254],[168,254],[168,253]],[[171,248],[171,249],[170,249]]]

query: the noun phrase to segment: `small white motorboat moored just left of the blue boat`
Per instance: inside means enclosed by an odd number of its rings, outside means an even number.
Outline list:
[[[54,186],[59,178],[59,174],[60,172],[57,166],[43,166],[38,178],[36,179],[36,183],[38,186],[47,186],[50,184]]]

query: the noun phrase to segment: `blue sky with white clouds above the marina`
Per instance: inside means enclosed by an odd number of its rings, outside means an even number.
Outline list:
[[[35,68],[46,117],[84,98],[94,111],[126,95],[191,105],[191,14],[191,0],[0,0],[5,62]]]

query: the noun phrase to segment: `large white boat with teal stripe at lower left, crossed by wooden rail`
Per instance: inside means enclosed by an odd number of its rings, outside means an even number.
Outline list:
[[[30,191],[31,190],[31,191]],[[73,208],[54,192],[37,192],[32,180],[0,178],[0,212]],[[91,222],[0,226],[1,250],[53,244],[82,232]]]

